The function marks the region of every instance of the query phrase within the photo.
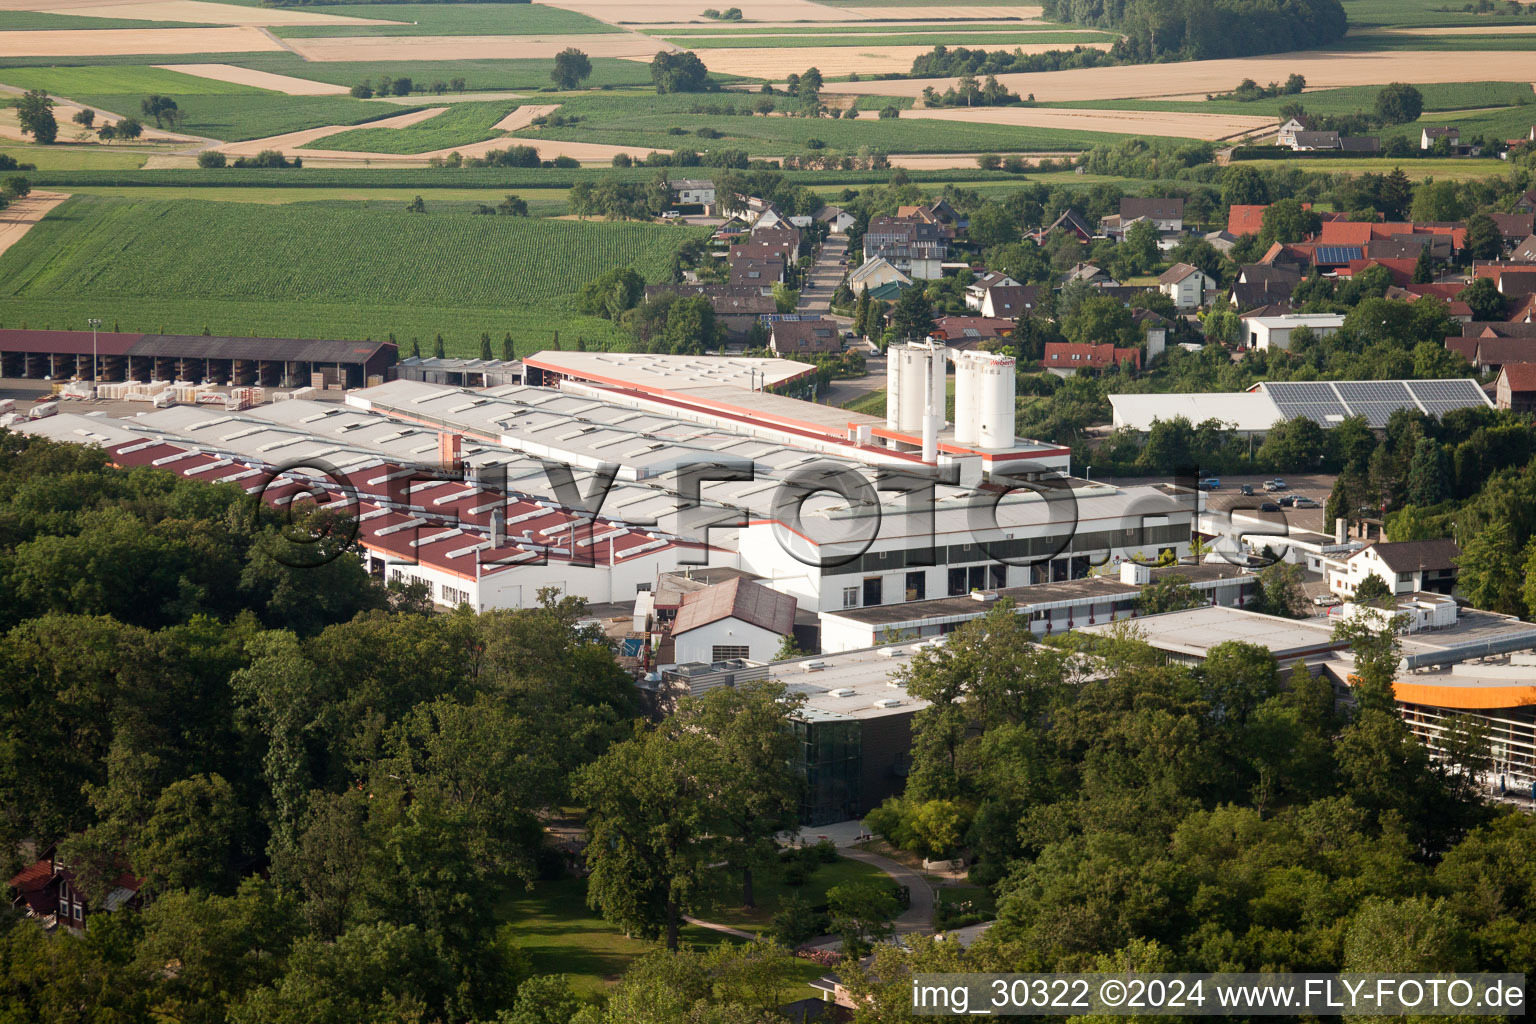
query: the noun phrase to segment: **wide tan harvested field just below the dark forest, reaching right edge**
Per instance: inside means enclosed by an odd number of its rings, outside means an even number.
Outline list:
[[[808,51],[786,51],[805,54]],[[1455,51],[1395,51],[1381,54],[1339,54],[1303,51],[1267,57],[1235,57],[1227,60],[1195,60],[1174,64],[1130,64],[1121,68],[1081,68],[1075,71],[1043,71],[1038,74],[998,75],[998,81],[1018,94],[1035,94],[1041,101],[1068,100],[1143,100],[1186,95],[1192,92],[1226,92],[1244,78],[1284,81],[1296,72],[1306,75],[1312,89],[1341,86],[1375,86],[1385,81],[1536,81],[1536,51],[1485,51],[1476,55],[1471,71],[1468,54]],[[708,63],[708,57],[705,60]],[[793,63],[793,61],[791,61]],[[803,71],[814,60],[800,61],[777,74]],[[766,61],[763,61],[766,64]],[[826,72],[825,64],[817,64]],[[714,66],[711,64],[711,69]],[[720,71],[725,71],[720,68]],[[872,71],[872,69],[871,69]],[[774,72],[765,72],[774,74]],[[863,95],[917,97],[932,86],[943,92],[957,78],[908,78],[897,81],[828,81],[823,92],[854,92]]]

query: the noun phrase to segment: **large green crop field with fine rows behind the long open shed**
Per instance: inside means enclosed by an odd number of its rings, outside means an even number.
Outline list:
[[[124,330],[290,338],[442,333],[475,355],[481,332],[519,352],[559,332],[624,347],[608,321],[571,310],[590,278],[630,266],[664,279],[699,229],[479,216],[402,207],[260,206],[75,197],[0,256],[6,325],[88,316]]]

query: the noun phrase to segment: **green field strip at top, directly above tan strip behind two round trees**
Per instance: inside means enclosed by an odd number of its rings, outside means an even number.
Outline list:
[[[381,18],[401,25],[283,25],[284,38],[319,35],[591,35],[617,32],[611,25],[574,11],[539,3],[399,3],[327,5],[326,14]]]

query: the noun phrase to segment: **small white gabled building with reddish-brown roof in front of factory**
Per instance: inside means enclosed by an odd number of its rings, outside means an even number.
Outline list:
[[[790,594],[742,577],[693,591],[671,623],[673,657],[679,665],[773,662],[794,636],[794,609]]]

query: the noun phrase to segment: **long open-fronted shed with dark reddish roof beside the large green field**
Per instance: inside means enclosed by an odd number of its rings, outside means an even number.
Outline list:
[[[94,368],[92,368],[94,361]],[[237,387],[364,387],[392,376],[393,344],[0,330],[0,376],[34,381],[215,381]]]

